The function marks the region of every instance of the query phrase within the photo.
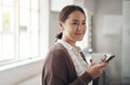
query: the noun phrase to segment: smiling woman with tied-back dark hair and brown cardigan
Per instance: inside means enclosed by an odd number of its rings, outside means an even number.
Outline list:
[[[84,55],[78,46],[86,30],[86,14],[78,5],[65,6],[58,16],[61,33],[57,41],[48,53],[42,71],[42,85],[92,85],[103,69],[105,62],[88,65]],[[98,82],[93,82],[98,85]]]

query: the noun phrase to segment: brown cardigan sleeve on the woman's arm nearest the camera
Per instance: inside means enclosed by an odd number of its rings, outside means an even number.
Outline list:
[[[92,77],[87,72],[69,81],[70,68],[65,57],[66,54],[62,49],[53,49],[49,53],[43,67],[42,85],[88,85]]]

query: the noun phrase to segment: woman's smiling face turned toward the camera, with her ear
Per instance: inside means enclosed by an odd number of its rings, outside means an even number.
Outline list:
[[[80,11],[74,11],[65,23],[62,23],[61,29],[63,40],[67,42],[81,41],[87,30],[86,16]]]

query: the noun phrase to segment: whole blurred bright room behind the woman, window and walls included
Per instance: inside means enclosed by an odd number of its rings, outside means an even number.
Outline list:
[[[0,0],[0,85],[41,85],[43,60],[67,4],[83,8],[87,57],[113,53],[100,85],[130,85],[130,0]]]

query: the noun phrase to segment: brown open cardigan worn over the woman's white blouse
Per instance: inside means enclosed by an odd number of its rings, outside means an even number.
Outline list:
[[[42,85],[88,85],[91,80],[87,72],[77,76],[66,48],[60,43],[54,44],[43,65]],[[98,81],[94,81],[93,85],[98,85]]]

